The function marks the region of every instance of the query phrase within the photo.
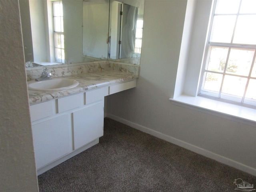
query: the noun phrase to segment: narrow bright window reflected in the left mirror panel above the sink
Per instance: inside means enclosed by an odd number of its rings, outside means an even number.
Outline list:
[[[52,2],[55,61],[65,62],[62,1]]]

